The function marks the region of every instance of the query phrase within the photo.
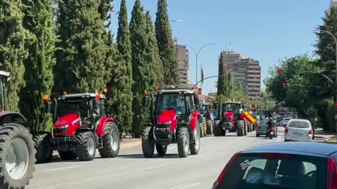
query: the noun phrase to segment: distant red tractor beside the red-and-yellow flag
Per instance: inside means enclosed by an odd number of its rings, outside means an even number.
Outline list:
[[[215,136],[225,136],[226,130],[237,132],[242,137],[247,134],[249,123],[244,116],[244,106],[241,102],[225,102],[218,109],[218,122],[214,127]]]

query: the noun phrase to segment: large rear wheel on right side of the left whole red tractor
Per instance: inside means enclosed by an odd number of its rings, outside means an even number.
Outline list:
[[[116,158],[120,146],[119,130],[116,123],[108,122],[105,124],[103,131],[103,148],[99,148],[100,157]]]

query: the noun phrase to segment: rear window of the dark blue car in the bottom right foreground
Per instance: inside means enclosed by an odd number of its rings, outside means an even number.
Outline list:
[[[326,188],[326,160],[297,155],[240,155],[219,188]]]

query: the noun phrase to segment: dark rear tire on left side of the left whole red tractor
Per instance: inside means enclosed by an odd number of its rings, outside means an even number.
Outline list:
[[[49,162],[53,157],[53,151],[51,151],[51,134],[48,132],[41,132],[37,136],[33,137],[34,146],[37,150],[35,158],[37,163]]]

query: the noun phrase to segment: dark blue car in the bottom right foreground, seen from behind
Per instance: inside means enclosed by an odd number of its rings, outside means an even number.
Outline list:
[[[270,143],[236,153],[213,189],[337,188],[336,144]]]

